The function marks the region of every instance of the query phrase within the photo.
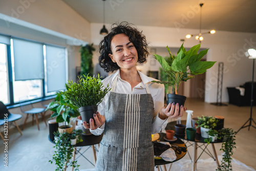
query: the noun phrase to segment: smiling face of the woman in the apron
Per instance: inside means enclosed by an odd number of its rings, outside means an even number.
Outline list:
[[[111,51],[112,54],[109,54],[109,56],[113,62],[117,63],[120,69],[136,68],[138,53],[127,35],[115,35],[111,41]]]

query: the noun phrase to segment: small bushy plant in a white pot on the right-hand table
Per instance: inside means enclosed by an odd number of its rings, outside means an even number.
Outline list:
[[[209,138],[209,135],[207,134],[207,132],[210,129],[215,129],[215,127],[217,126],[217,122],[218,120],[216,120],[216,118],[212,117],[212,116],[204,116],[202,115],[201,117],[198,117],[198,127],[200,126],[201,128],[201,136],[203,138]]]

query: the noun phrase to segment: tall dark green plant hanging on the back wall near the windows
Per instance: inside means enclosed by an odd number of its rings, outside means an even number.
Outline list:
[[[81,53],[81,75],[91,75],[93,74],[93,44],[82,46],[80,48]]]

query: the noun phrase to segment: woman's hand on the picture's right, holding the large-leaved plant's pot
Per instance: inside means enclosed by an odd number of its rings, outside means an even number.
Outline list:
[[[179,106],[179,103],[169,103],[166,107],[164,106],[160,112],[158,117],[160,119],[166,119],[168,117],[170,118],[180,118],[183,116],[184,111],[186,111],[187,108],[184,108],[183,105]]]

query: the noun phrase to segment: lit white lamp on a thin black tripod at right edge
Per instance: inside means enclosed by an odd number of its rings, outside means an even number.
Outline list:
[[[245,56],[249,57],[249,59],[253,59],[252,62],[252,82],[251,82],[251,112],[250,112],[250,118],[244,123],[244,125],[242,127],[240,127],[240,129],[236,132],[236,134],[243,128],[248,127],[248,131],[250,131],[250,126],[254,127],[254,129],[256,129],[256,126],[251,125],[251,122],[255,121],[252,118],[252,105],[253,105],[253,78],[254,78],[254,60],[256,58],[256,50],[255,49],[248,49],[247,52],[245,52]],[[246,123],[249,122],[248,125],[246,125]]]

